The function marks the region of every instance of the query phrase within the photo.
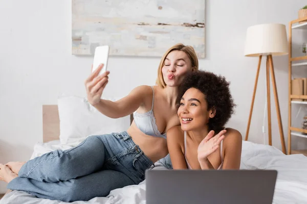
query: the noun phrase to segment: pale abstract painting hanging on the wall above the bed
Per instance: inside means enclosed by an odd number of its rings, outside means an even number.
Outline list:
[[[161,57],[176,43],[205,57],[205,0],[72,0],[72,54]]]

